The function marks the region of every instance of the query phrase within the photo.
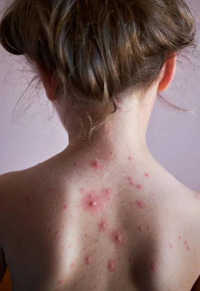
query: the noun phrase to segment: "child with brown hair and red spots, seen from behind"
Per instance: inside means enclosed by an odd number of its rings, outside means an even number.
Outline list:
[[[200,290],[200,194],[146,144],[194,28],[184,0],[9,4],[0,43],[25,55],[69,135],[0,177],[0,280],[8,266],[13,291]]]

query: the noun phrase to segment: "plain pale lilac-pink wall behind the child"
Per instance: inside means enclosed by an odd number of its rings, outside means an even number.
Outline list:
[[[2,4],[4,1],[0,1]],[[189,1],[188,1],[189,2]],[[189,5],[200,23],[200,1]],[[200,32],[198,32],[200,33]],[[196,110],[190,113],[167,109],[160,101],[150,119],[147,143],[152,155],[172,175],[189,188],[200,192],[200,49],[188,54],[190,61],[179,59],[176,76],[163,94],[175,105]],[[30,80],[21,72],[21,58],[9,56],[0,47],[0,174],[18,171],[43,162],[62,151],[68,144],[66,131],[45,96],[44,89],[27,112],[20,106],[12,121],[17,100]],[[25,67],[25,69],[28,69]],[[34,88],[23,97],[22,104],[35,94]]]

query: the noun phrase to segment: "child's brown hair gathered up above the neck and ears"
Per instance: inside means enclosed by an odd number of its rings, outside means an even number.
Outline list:
[[[184,0],[14,0],[0,23],[4,49],[50,72],[55,94],[104,104],[105,115],[124,92],[142,100],[170,52],[195,46],[195,34]]]

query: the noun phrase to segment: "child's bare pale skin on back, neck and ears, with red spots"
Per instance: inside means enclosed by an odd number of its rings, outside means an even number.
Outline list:
[[[145,107],[120,103],[93,146],[83,144],[38,67],[69,146],[30,169],[0,176],[0,281],[13,291],[200,291],[200,194],[151,156],[146,131],[176,55]],[[196,284],[195,284],[196,282]],[[193,285],[195,286],[193,287]]]

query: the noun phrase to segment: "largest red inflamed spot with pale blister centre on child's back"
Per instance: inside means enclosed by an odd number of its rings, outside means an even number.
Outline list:
[[[103,198],[96,193],[86,194],[82,198],[81,206],[83,210],[90,211],[92,214],[97,214],[103,208]]]

